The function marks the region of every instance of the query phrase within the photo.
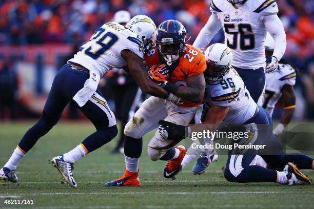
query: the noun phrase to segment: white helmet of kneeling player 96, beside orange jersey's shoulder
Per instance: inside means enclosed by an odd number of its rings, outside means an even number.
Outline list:
[[[207,83],[220,82],[226,75],[232,62],[232,52],[227,45],[213,44],[205,50],[207,68],[204,76]]]

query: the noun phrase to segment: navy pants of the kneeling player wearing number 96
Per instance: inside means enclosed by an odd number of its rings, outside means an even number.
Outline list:
[[[281,142],[272,133],[272,121],[265,109],[259,107],[259,113],[247,123],[257,124],[258,131],[252,134],[250,140],[244,139],[246,144],[266,144],[266,149],[273,152],[260,154],[269,165],[269,169],[251,164],[259,154],[257,150],[233,150],[228,153],[228,160],[224,172],[225,178],[231,182],[276,182],[277,171],[282,171],[288,162],[298,165],[299,169],[312,169],[313,159],[302,154],[285,154]],[[254,138],[257,135],[257,138]],[[241,144],[243,140],[238,143]]]

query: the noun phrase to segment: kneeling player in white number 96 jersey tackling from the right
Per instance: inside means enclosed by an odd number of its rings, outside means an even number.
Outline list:
[[[265,109],[253,101],[238,73],[231,67],[232,52],[223,44],[211,45],[205,51],[207,70],[205,79],[206,102],[209,110],[205,121],[191,127],[160,121],[167,130],[168,138],[181,140],[185,133],[211,132],[218,128],[239,126],[249,133],[237,140],[238,144],[266,144],[274,148],[271,154],[261,155],[271,169],[256,165],[258,150],[234,149],[228,152],[225,178],[231,182],[278,182],[281,184],[311,184],[300,169],[313,169],[313,159],[301,154],[285,154],[276,136],[272,133],[272,121]],[[272,154],[274,153],[274,154]],[[293,163],[291,163],[293,162]]]

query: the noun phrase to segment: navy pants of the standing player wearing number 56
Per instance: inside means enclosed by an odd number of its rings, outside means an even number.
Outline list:
[[[242,69],[237,67],[233,68],[241,76],[242,80],[244,81],[244,85],[246,86],[253,100],[258,103],[258,105],[262,106],[262,97],[264,96],[266,82],[264,68],[258,68],[256,70]]]

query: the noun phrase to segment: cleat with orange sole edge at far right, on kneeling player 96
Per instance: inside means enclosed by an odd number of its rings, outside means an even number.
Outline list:
[[[285,166],[284,171],[287,172],[288,184],[312,184],[312,180],[302,174],[297,166],[291,162]]]

